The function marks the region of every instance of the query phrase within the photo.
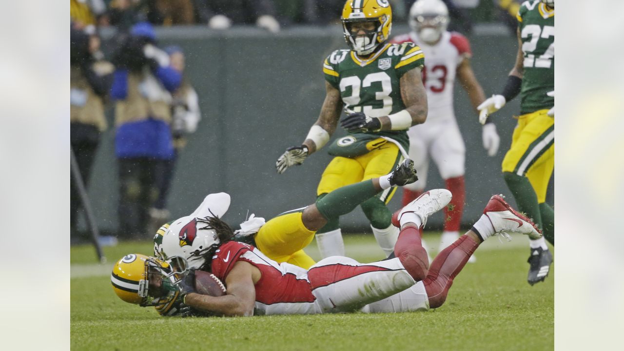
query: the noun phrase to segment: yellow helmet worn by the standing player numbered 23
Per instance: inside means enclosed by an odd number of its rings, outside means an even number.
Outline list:
[[[388,40],[392,29],[392,9],[388,0],[347,0],[343,8],[344,40],[358,55],[368,55]],[[373,22],[372,29],[352,31],[356,23]]]

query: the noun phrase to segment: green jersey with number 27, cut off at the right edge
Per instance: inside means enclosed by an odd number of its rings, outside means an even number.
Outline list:
[[[528,0],[517,18],[524,52],[520,113],[550,109],[555,106],[555,98],[546,95],[555,90],[555,10]]]

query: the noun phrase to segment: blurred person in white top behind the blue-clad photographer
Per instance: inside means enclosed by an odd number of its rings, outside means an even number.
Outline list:
[[[150,208],[149,233],[155,234],[161,225],[171,220],[170,212],[167,210],[167,197],[175,164],[180,156],[180,152],[187,144],[187,135],[197,130],[197,124],[201,119],[197,92],[190,84],[188,76],[184,74],[185,57],[184,52],[178,46],[168,46],[165,52],[169,55],[171,67],[182,74],[180,87],[173,92],[171,104],[173,134],[173,157],[164,161],[165,167],[157,174],[157,185],[160,191],[154,206]]]

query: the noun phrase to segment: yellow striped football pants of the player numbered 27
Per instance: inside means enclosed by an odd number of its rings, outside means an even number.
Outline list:
[[[540,204],[546,200],[548,181],[555,169],[555,119],[547,112],[539,110],[518,118],[502,163],[503,172],[529,178]]]

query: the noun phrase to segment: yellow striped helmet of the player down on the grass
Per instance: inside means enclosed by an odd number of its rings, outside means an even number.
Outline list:
[[[181,278],[178,272],[172,270],[170,262],[141,254],[129,254],[113,267],[110,283],[120,299],[145,307],[160,305],[160,298],[177,294],[175,284]]]

